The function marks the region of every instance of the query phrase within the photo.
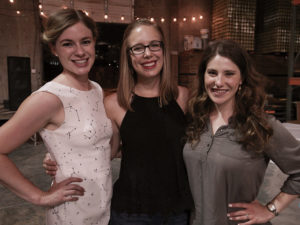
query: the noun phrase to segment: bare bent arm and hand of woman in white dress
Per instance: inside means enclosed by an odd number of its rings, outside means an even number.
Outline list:
[[[70,178],[44,192],[34,186],[17,169],[7,154],[23,144],[42,127],[51,123],[59,110],[60,104],[48,93],[38,93],[27,98],[16,114],[0,127],[0,181],[21,198],[37,205],[57,205],[67,200],[68,196],[82,195],[83,189],[72,182],[79,178]]]

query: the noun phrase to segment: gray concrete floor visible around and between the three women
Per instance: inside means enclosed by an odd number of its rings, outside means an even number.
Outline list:
[[[26,143],[10,155],[20,170],[34,184],[47,190],[50,178],[45,175],[42,168],[42,159],[45,147],[42,143],[34,146]],[[112,161],[113,179],[118,176],[120,159]],[[271,163],[268,167],[265,181],[259,195],[259,200],[266,202],[279,191],[284,178],[279,169]],[[0,185],[0,225],[42,225],[44,223],[45,208],[34,206],[18,198],[5,187]],[[273,219],[274,225],[299,225],[300,200],[294,201],[280,216]],[[221,225],[221,224],[220,224]]]

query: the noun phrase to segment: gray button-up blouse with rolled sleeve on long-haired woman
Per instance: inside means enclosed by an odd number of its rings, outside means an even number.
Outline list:
[[[265,154],[243,149],[230,125],[213,135],[208,124],[194,148],[185,145],[183,155],[195,202],[193,225],[238,224],[227,218],[228,212],[237,210],[228,204],[256,199],[270,159],[289,175],[281,190],[300,194],[300,142],[279,121],[272,118],[269,122],[274,134]]]

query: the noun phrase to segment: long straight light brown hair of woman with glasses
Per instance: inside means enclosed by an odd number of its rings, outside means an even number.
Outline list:
[[[169,50],[164,37],[163,31],[156,23],[151,22],[148,19],[138,19],[129,24],[126,28],[123,36],[123,44],[121,48],[120,57],[120,80],[117,88],[117,96],[120,106],[126,110],[132,110],[131,96],[134,90],[134,86],[137,82],[137,75],[131,64],[131,58],[129,55],[129,43],[128,37],[131,32],[139,26],[152,26],[161,36],[163,42],[163,68],[161,71],[160,80],[160,103],[161,105],[167,105],[171,99],[176,99],[178,96],[178,89],[175,83],[175,79],[172,77],[170,69]]]

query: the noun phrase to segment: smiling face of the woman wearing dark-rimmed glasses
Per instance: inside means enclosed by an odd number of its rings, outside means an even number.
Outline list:
[[[161,41],[159,32],[152,26],[141,25],[131,31],[128,37],[128,46],[133,47],[137,44],[149,45],[153,41]],[[163,50],[150,51],[145,49],[142,54],[135,55],[129,52],[133,69],[138,79],[148,79],[160,77],[163,67]]]

